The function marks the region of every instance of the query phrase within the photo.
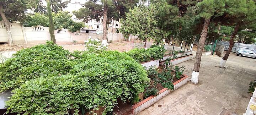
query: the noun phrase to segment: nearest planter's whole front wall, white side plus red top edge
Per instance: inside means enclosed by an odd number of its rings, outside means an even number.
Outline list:
[[[180,80],[174,82],[174,90],[177,88],[183,86],[184,84],[187,83],[188,81],[188,76],[182,74],[184,77],[182,77]],[[148,108],[149,106],[153,105],[156,103],[159,99],[163,98],[165,95],[171,93],[171,89],[164,88],[159,91],[159,94],[157,96],[151,95],[150,97],[142,100],[141,102],[135,104],[132,106],[133,108],[133,115],[138,114],[140,111],[143,111],[144,109]]]

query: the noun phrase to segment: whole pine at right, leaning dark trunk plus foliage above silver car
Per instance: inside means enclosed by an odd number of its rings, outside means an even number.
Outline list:
[[[256,5],[253,0],[227,0],[226,10],[222,20],[226,21],[222,24],[232,24],[234,23],[234,31],[230,36],[229,48],[226,54],[220,61],[220,68],[223,68],[226,61],[228,60],[229,54],[235,44],[234,37],[238,32],[240,26],[248,25],[256,20]]]

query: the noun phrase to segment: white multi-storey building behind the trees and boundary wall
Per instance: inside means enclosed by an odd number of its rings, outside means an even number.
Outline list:
[[[74,21],[80,22],[81,20],[78,20],[76,16],[72,13],[73,11],[79,10],[81,8],[84,8],[85,2],[87,0],[70,0],[70,3],[68,3],[68,6],[64,9],[64,11],[68,11],[72,15],[72,19]],[[88,23],[85,23],[85,25],[88,25],[91,29],[96,29],[97,31],[103,31],[103,17],[100,18],[100,21],[96,20],[89,20]],[[111,24],[108,24],[108,27],[112,27],[114,22],[114,28],[119,28],[119,22],[118,21],[112,21]],[[116,29],[115,29],[116,30]]]

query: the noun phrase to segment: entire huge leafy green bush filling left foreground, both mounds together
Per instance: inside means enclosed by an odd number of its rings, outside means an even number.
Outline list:
[[[18,51],[0,67],[1,86],[14,89],[7,109],[19,114],[67,114],[69,108],[78,115],[101,106],[112,111],[117,98],[138,101],[149,83],[126,53],[70,53],[52,42]]]

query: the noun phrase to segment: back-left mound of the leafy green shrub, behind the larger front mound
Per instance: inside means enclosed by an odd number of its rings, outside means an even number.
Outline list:
[[[1,92],[18,88],[39,76],[68,73],[72,66],[68,61],[68,54],[68,50],[52,41],[17,51],[14,58],[0,64]]]

